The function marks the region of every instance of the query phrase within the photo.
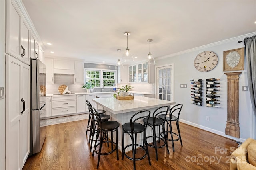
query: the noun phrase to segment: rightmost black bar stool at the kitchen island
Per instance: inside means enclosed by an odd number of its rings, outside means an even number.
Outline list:
[[[173,143],[173,141],[180,140],[180,144],[181,144],[181,146],[183,146],[181,136],[180,136],[180,126],[179,126],[179,117],[180,117],[180,111],[181,111],[182,107],[183,107],[183,104],[176,104],[170,109],[169,116],[166,116],[164,118],[164,115],[159,115],[159,118],[164,120],[167,123],[166,131],[165,131],[166,139],[169,140],[169,141],[172,141],[172,150],[173,150],[173,152],[174,152],[174,143]],[[177,117],[174,116],[174,113],[178,113]],[[178,130],[179,134],[176,134],[176,133],[172,132],[172,121],[176,121],[176,126],[177,126],[177,130]],[[170,131],[168,131],[168,125],[170,127]],[[168,132],[171,135],[171,139],[168,139]],[[162,133],[161,133],[161,135],[162,135]],[[173,134],[176,135],[178,138],[173,139]]]

